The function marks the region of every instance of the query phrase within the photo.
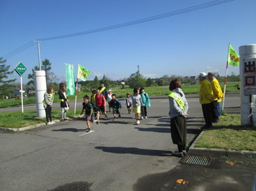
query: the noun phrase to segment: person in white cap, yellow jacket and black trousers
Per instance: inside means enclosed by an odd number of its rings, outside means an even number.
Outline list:
[[[203,117],[206,121],[206,124],[202,128],[208,129],[213,126],[211,118],[213,90],[211,89],[211,83],[207,80],[206,73],[200,73],[198,78],[200,80],[199,101],[202,105]]]

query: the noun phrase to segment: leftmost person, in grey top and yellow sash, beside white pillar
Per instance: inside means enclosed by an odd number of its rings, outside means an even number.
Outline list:
[[[45,108],[45,116],[47,125],[56,124],[54,121],[52,121],[51,118],[51,110],[53,106],[53,86],[49,85],[47,92],[45,92],[45,95],[43,95],[43,107]],[[49,121],[50,119],[50,121]]]

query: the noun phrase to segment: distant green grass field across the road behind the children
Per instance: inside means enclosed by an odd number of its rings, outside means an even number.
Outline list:
[[[227,83],[226,85],[226,91],[230,92],[230,91],[239,91],[237,90],[237,88],[235,87],[235,85],[237,85],[238,82],[235,83]],[[221,88],[224,88],[224,83],[220,83]],[[198,93],[199,92],[199,88],[200,85],[183,85],[182,86],[182,90],[185,94],[189,94],[189,93]],[[112,93],[115,93],[117,95],[118,98],[125,98],[126,97],[126,93],[131,93],[133,94],[133,89],[131,88],[124,88],[121,89],[120,86],[115,86],[115,87],[110,87],[109,89],[112,90]],[[151,87],[145,87],[146,93],[150,95],[168,95],[169,93],[169,86],[151,86]],[[83,93],[79,93],[77,95],[77,99],[81,100],[84,95],[92,95],[92,92],[83,92]],[[75,100],[75,96],[74,95],[69,95],[69,100],[70,101],[74,101]],[[58,95],[54,95],[54,102],[59,102],[58,101]],[[23,99],[23,104],[31,104],[31,103],[35,103],[35,98],[24,98]],[[4,100],[0,100],[0,108],[6,108],[9,106],[21,106],[22,101],[21,99],[4,99]]]

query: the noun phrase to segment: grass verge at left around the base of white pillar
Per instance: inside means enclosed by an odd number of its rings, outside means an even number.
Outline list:
[[[79,113],[79,112],[77,112]],[[61,111],[53,110],[53,120],[59,119]],[[67,113],[69,118],[73,118],[74,110],[69,110]],[[35,124],[45,123],[45,118],[38,118],[36,111],[13,111],[13,112],[0,112],[0,126],[6,128],[20,128],[25,126],[32,126]]]

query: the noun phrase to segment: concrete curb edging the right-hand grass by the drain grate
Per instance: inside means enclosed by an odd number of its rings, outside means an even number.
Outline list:
[[[225,150],[225,149],[209,149],[209,148],[195,147],[195,145],[198,144],[198,141],[200,140],[201,136],[203,136],[205,131],[207,130],[203,130],[199,134],[199,136],[195,139],[193,144],[191,144],[189,148],[190,154],[203,154],[203,155],[210,155],[213,157],[220,157],[220,156],[250,157],[250,158],[256,157],[256,152],[252,152],[252,151],[234,151],[234,150]]]

